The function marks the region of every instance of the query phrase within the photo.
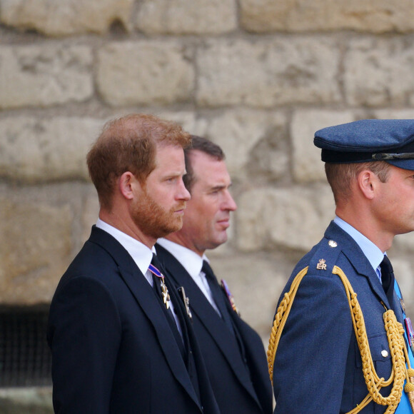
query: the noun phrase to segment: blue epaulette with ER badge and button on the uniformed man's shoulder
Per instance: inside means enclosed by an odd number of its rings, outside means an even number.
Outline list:
[[[336,265],[341,251],[338,243],[332,239],[323,238],[310,258],[308,274],[315,276],[330,276]]]

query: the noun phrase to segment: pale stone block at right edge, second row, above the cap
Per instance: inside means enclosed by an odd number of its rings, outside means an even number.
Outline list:
[[[344,60],[344,89],[353,106],[414,102],[414,46],[411,38],[354,39]]]

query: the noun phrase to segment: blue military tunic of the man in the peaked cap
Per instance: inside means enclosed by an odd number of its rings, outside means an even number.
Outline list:
[[[338,224],[330,223],[325,237],[299,261],[281,299],[306,266],[308,273],[298,288],[276,352],[275,413],[348,413],[361,403],[368,389],[348,298],[340,278],[332,273],[333,266],[345,273],[358,295],[375,370],[385,379],[390,377],[392,360],[383,304],[395,309],[400,323],[404,316],[397,296],[388,303],[373,265]],[[380,393],[388,396],[390,389],[388,386]],[[360,413],[384,413],[386,408],[371,401]]]

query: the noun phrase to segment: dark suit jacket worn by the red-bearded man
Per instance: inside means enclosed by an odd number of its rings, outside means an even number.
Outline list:
[[[56,413],[218,413],[183,303],[173,286],[169,290],[191,350],[188,360],[131,256],[111,235],[92,228],[51,302]]]

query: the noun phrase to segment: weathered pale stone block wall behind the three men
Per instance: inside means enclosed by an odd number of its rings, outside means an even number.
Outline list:
[[[156,113],[226,151],[238,211],[210,256],[266,343],[333,218],[313,133],[414,118],[413,67],[408,0],[0,0],[0,303],[49,303],[96,221],[91,142]],[[413,253],[390,251],[411,315]]]

